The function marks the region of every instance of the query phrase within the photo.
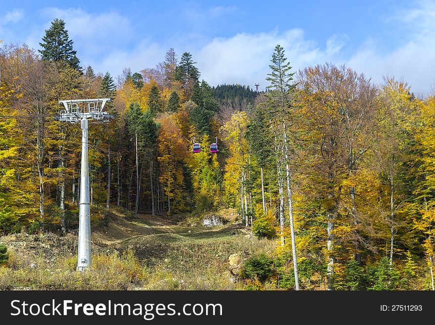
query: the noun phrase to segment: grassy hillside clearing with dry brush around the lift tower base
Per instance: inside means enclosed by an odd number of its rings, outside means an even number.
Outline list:
[[[273,251],[234,223],[233,211],[220,213],[226,223],[211,228],[201,219],[168,219],[107,211],[92,229],[93,270],[75,272],[77,233],[17,233],[0,237],[9,248],[9,267],[0,268],[1,289],[243,289],[231,273],[229,256],[241,260]],[[231,270],[231,271],[230,271]]]

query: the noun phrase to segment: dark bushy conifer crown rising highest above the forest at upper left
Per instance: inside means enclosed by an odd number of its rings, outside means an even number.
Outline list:
[[[49,29],[45,30],[43,42],[40,43],[43,50],[39,50],[44,60],[53,62],[66,62],[76,70],[81,70],[77,51],[73,49],[73,41],[69,39],[65,22],[62,19],[54,19]]]

